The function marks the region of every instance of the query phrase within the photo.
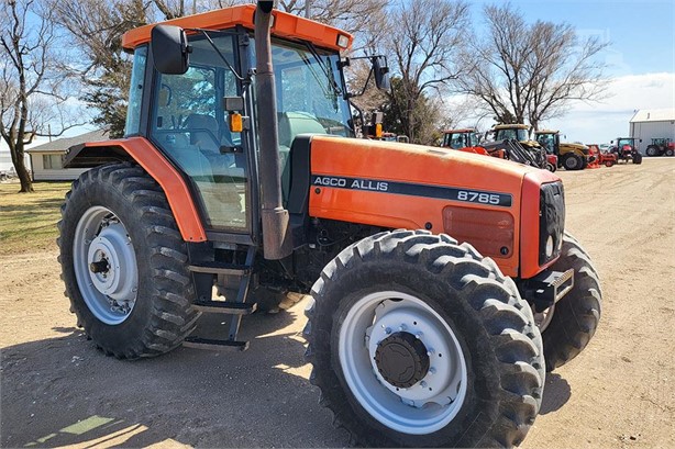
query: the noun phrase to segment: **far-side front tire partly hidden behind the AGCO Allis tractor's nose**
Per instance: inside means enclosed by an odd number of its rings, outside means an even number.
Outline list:
[[[563,238],[554,271],[574,268],[574,287],[553,307],[535,314],[544,339],[546,370],[553,371],[578,356],[593,338],[602,311],[602,291],[596,268],[579,243]]]

